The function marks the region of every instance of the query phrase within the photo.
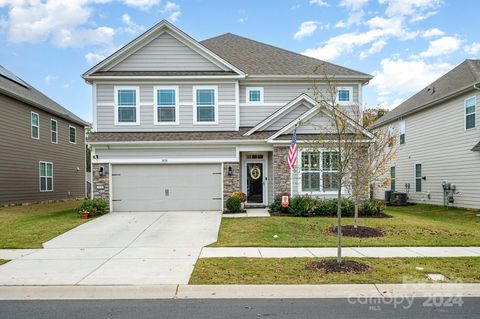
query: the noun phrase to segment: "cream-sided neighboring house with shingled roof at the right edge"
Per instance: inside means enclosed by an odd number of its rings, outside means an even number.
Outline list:
[[[390,189],[443,205],[445,181],[456,186],[455,206],[480,208],[479,90],[480,60],[466,60],[375,123],[399,134]]]

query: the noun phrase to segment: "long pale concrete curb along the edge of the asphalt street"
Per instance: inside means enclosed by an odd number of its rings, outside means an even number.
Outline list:
[[[0,300],[480,297],[480,284],[10,286]]]

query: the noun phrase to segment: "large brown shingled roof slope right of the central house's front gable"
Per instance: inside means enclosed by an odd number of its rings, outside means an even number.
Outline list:
[[[315,72],[320,64],[328,75],[369,81],[369,74],[314,59],[269,44],[226,33],[200,42],[249,76],[322,76]]]

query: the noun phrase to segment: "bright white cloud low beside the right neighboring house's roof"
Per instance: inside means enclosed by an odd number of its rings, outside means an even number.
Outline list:
[[[405,97],[418,92],[450,69],[448,63],[426,63],[422,60],[383,59],[381,70],[370,85],[378,94],[381,106],[392,108]]]

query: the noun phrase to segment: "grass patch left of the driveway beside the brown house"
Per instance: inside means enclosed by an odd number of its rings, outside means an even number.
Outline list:
[[[42,243],[82,224],[81,201],[0,208],[0,249],[41,248]]]

